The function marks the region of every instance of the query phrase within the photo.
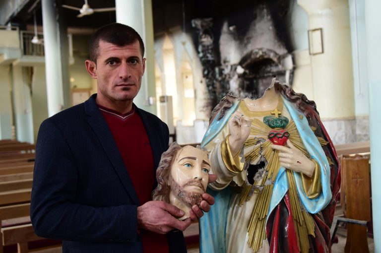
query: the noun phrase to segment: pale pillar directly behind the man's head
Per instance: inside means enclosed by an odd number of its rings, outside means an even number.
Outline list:
[[[135,29],[143,39],[145,47],[145,58],[147,58],[145,73],[139,94],[133,102],[139,108],[157,114],[157,102],[152,104],[152,98],[156,97],[152,2],[151,0],[115,0],[115,6],[117,22]]]

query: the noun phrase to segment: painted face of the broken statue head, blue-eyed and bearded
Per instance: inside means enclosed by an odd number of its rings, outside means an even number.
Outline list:
[[[180,149],[171,166],[171,190],[190,205],[199,204],[208,185],[210,161],[206,151],[185,146]]]

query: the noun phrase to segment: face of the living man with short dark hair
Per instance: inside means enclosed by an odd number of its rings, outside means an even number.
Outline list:
[[[89,73],[98,82],[97,100],[111,104],[132,101],[140,89],[145,60],[138,41],[123,47],[99,41],[96,65],[86,62]]]

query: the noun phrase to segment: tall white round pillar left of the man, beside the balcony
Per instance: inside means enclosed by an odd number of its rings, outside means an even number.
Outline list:
[[[70,106],[68,40],[61,0],[42,0],[46,85],[49,116]]]

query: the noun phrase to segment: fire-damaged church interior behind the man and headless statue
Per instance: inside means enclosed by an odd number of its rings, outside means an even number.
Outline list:
[[[134,103],[181,145],[201,143],[228,92],[260,98],[275,77],[315,101],[341,164],[332,252],[381,252],[373,215],[381,162],[371,156],[381,144],[370,137],[381,124],[380,8],[379,0],[0,0],[0,253],[62,252],[25,217],[37,133],[97,93],[88,42],[112,22],[145,43]],[[198,224],[184,235],[188,252],[199,252]]]

